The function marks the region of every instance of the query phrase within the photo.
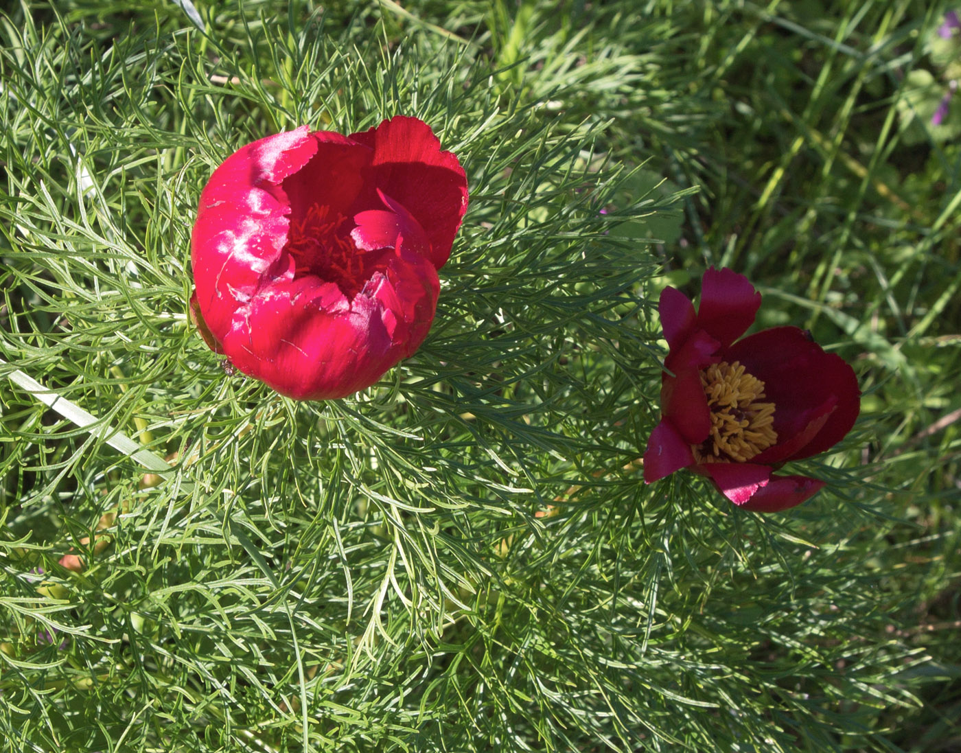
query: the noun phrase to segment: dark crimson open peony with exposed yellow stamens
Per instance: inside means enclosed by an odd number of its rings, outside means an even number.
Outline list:
[[[661,383],[661,422],[644,453],[647,483],[689,468],[734,504],[775,512],[801,504],[824,481],[774,475],[836,445],[854,425],[860,391],[853,370],[797,327],[737,340],[761,304],[747,278],[713,267],[701,306],[679,290],[658,310],[670,351]]]

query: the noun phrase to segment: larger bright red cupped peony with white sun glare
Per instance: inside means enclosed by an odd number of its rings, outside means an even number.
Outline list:
[[[466,209],[460,163],[417,118],[261,138],[201,193],[191,313],[213,351],[281,394],[350,395],[424,341]]]

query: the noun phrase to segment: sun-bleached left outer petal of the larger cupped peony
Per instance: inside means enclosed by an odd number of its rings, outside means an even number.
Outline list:
[[[283,179],[311,158],[307,127],[241,147],[213,171],[190,237],[196,300],[212,336],[223,341],[234,311],[278,263],[289,212]]]

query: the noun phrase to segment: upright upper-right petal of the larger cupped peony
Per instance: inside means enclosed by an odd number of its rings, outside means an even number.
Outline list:
[[[398,115],[351,138],[374,150],[377,187],[406,206],[427,231],[431,261],[440,269],[467,211],[467,176],[460,162],[441,151],[430,126],[413,117]]]

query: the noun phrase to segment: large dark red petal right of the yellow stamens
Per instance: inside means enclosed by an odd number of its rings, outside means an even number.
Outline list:
[[[827,414],[801,447],[780,460],[810,457],[841,441],[860,411],[861,393],[853,369],[834,353],[825,352],[796,327],[764,329],[727,351],[728,361],[740,361],[764,382],[766,401],[775,403],[778,445],[809,431]],[[768,452],[772,457],[774,452]]]

